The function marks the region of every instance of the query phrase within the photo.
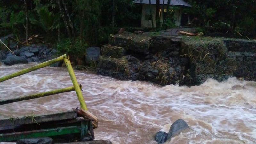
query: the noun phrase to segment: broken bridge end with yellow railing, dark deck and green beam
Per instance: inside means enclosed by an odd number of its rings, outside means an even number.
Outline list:
[[[78,84],[74,70],[69,61],[68,55],[62,55],[53,60],[38,64],[31,68],[23,69],[19,72],[0,78],[0,83],[14,77],[29,73],[31,71],[49,66],[53,63],[64,61],[70,75],[73,86],[48,92],[22,96],[9,100],[1,100],[0,105],[30,100],[39,97],[45,97],[58,93],[76,91],[77,98],[80,102],[81,110],[76,109],[68,112],[60,112],[47,115],[25,116],[19,118],[0,119],[0,142],[15,142],[24,138],[36,137],[58,137],[65,135],[79,135],[81,140],[84,136],[94,138],[93,128],[97,127],[98,119],[87,111],[87,106],[81,92],[82,86]],[[79,113],[80,112],[80,113]],[[81,113],[82,112],[82,113]]]

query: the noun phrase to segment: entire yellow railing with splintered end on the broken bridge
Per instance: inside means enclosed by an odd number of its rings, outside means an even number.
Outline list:
[[[68,69],[69,76],[70,76],[71,81],[73,83],[73,86],[67,87],[67,88],[63,88],[63,89],[58,89],[58,90],[38,93],[38,94],[32,94],[32,95],[29,95],[29,96],[22,96],[22,97],[18,97],[18,98],[9,99],[9,100],[2,100],[2,101],[0,101],[0,105],[7,104],[7,103],[12,103],[12,102],[17,102],[17,101],[30,100],[30,99],[35,99],[35,98],[39,98],[39,97],[44,97],[44,96],[49,96],[49,95],[54,95],[54,94],[59,94],[59,93],[64,93],[64,92],[70,92],[70,91],[74,91],[75,90],[77,98],[78,98],[78,100],[80,102],[81,110],[82,110],[82,111],[80,111],[80,113],[84,117],[94,120],[96,122],[96,123],[94,123],[94,127],[97,128],[98,119],[97,119],[97,117],[93,116],[91,113],[89,113],[87,111],[88,109],[87,109],[87,106],[86,106],[86,103],[84,101],[84,97],[83,97],[82,91],[81,91],[82,86],[79,85],[77,80],[76,80],[76,76],[75,76],[74,70],[72,68],[72,65],[71,65],[71,63],[69,61],[69,57],[68,57],[67,54],[62,55],[62,56],[60,56],[58,58],[55,58],[55,59],[52,59],[52,60],[40,63],[40,64],[38,64],[36,66],[31,67],[31,68],[26,68],[26,69],[23,69],[21,71],[12,73],[10,75],[1,77],[0,78],[0,83],[3,82],[3,81],[6,81],[6,80],[12,79],[14,77],[17,77],[17,76],[20,76],[20,75],[24,75],[24,74],[29,73],[31,71],[35,71],[37,69],[47,67],[47,66],[49,66],[51,64],[54,64],[54,63],[60,62],[60,61],[64,61],[65,62],[66,67]]]

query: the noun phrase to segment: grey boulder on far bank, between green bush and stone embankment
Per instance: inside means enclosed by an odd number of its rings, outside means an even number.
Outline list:
[[[92,62],[98,61],[100,56],[99,47],[88,47],[86,49],[86,63],[90,64]]]

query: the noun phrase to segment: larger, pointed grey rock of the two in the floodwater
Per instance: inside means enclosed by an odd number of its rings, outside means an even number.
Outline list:
[[[168,132],[167,140],[189,129],[190,128],[188,124],[184,120],[178,119],[171,125]]]

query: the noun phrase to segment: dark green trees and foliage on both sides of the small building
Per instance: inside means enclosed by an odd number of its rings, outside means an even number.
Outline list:
[[[192,8],[185,12],[198,31],[255,37],[255,0],[186,1]],[[120,27],[140,27],[141,7],[133,0],[1,0],[0,36],[13,33],[18,40],[28,40],[40,34],[68,45],[63,52],[70,52],[70,45],[107,43]],[[165,18],[160,29],[173,27],[171,17]]]

